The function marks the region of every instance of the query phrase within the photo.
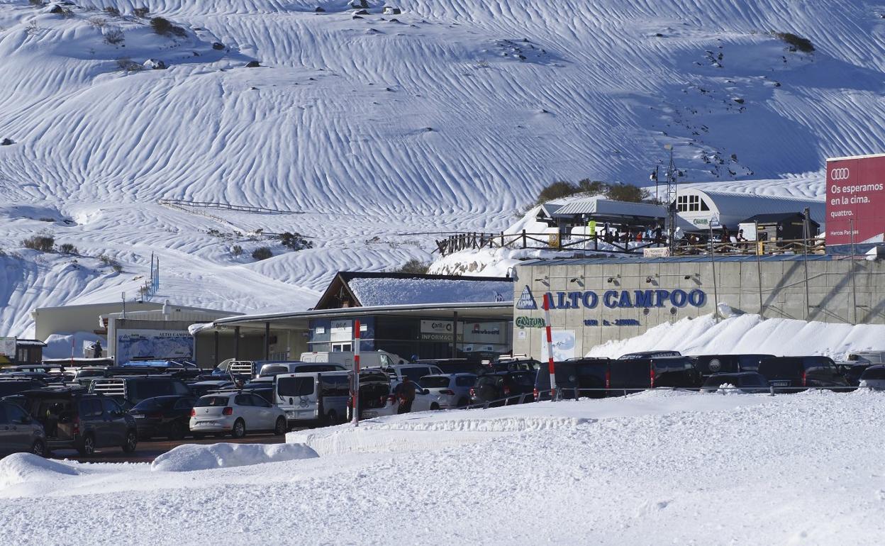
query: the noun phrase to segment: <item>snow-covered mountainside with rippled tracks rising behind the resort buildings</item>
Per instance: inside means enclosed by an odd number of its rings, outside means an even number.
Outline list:
[[[401,234],[503,229],[558,179],[642,183],[665,144],[683,181],[801,196],[823,195],[824,158],[885,149],[879,4],[369,4],[0,0],[0,334],[27,335],[34,306],[135,296],[151,252],[157,297],[306,308],[335,270],[432,258],[433,235]],[[168,68],[132,70],[148,59]],[[304,214],[221,223],[161,198]],[[81,256],[23,250],[41,230]]]

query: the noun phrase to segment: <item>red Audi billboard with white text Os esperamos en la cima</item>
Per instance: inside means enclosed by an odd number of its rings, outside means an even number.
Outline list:
[[[883,232],[885,154],[827,159],[827,244],[881,242]]]

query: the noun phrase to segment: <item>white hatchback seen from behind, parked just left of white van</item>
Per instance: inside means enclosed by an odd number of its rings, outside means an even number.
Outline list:
[[[249,432],[286,434],[286,412],[250,392],[225,392],[201,396],[190,411],[190,432],[230,434],[242,438]]]

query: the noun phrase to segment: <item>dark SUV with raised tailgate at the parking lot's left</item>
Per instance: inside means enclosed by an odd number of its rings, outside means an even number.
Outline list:
[[[42,424],[48,450],[73,449],[87,456],[110,446],[135,451],[135,419],[108,396],[59,388],[28,390],[14,398]]]

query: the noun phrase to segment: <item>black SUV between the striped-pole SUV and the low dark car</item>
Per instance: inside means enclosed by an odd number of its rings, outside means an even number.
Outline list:
[[[694,358],[624,358],[611,361],[608,387],[612,396],[643,388],[699,388],[701,374]]]

